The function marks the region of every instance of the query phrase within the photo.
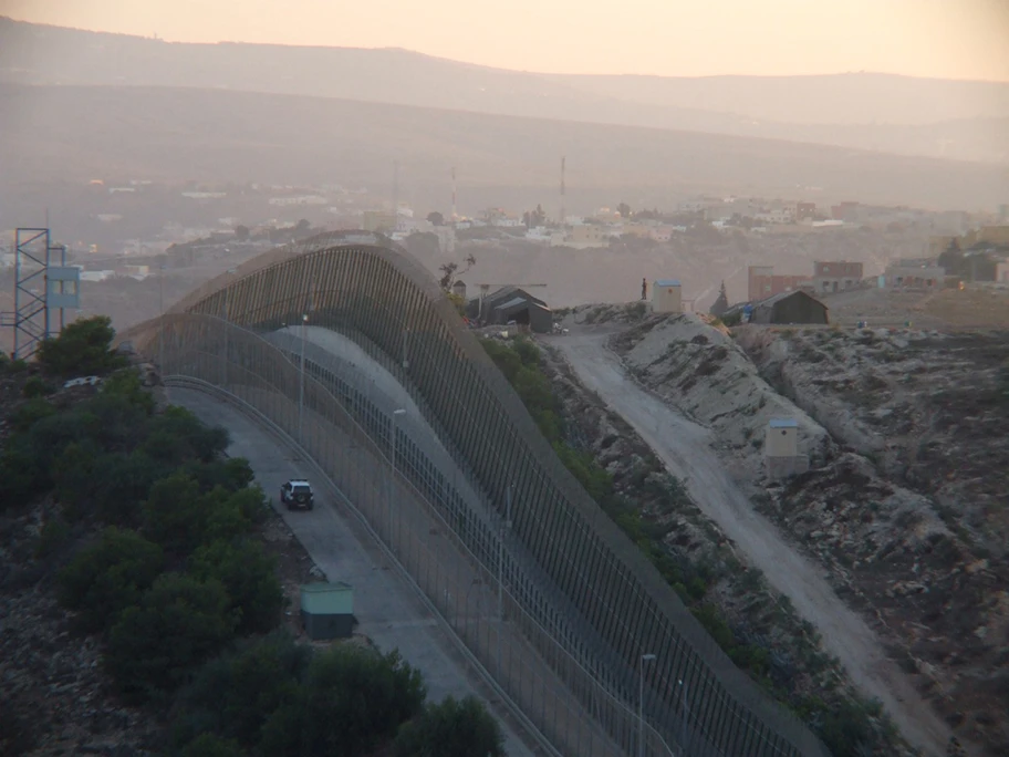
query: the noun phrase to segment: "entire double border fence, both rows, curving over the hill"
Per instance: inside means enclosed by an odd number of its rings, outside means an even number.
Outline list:
[[[434,465],[346,374],[302,362],[303,338],[301,354],[263,338],[305,323],[394,376],[450,464]],[[560,754],[826,757],[581,488],[396,248],[323,235],[275,250],[124,340],[163,375],[221,387],[298,438]]]

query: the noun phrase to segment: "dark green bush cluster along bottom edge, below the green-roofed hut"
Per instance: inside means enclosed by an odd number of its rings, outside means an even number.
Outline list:
[[[503,755],[476,699],[427,705],[420,674],[397,652],[342,644],[314,653],[285,632],[237,644],[205,665],[173,713],[181,755]]]

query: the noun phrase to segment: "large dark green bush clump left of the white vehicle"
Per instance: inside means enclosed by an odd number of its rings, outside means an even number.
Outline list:
[[[25,403],[0,457],[0,500],[52,489],[62,518],[37,549],[65,546],[69,523],[103,527],[58,572],[61,603],[105,641],[105,664],[134,702],[163,699],[237,635],[279,623],[273,560],[252,538],[267,515],[246,460],[221,459],[228,437],[193,414],[154,413],[134,372],[56,412]]]

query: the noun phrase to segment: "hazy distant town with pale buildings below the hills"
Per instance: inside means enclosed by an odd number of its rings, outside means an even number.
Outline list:
[[[318,187],[159,186],[145,179],[108,183],[94,179],[81,189],[79,203],[91,212],[72,219],[54,218],[54,234],[66,243],[70,258],[82,269],[82,281],[114,277],[143,279],[152,273],[144,259],[167,253],[167,267],[184,265],[200,242],[233,242],[247,252],[290,242],[312,229],[360,230],[382,234],[406,243],[415,235],[436,240],[438,250],[451,255],[460,243],[479,247],[500,241],[523,241],[539,247],[584,250],[608,248],[620,240],[667,245],[677,235],[719,234],[736,237],[781,236],[815,230],[874,229],[911,232],[922,238],[917,257],[893,260],[883,271],[864,270],[844,261],[814,270],[779,270],[755,265],[749,269],[747,298],[761,299],[805,288],[836,291],[877,276],[881,286],[942,287],[947,273],[969,280],[1009,281],[1009,205],[996,212],[934,212],[909,207],[878,207],[859,201],[819,206],[803,199],[698,196],[673,209],[632,208],[620,203],[585,215],[569,214],[563,197],[555,207],[486,208],[458,212],[450,203],[439,210],[418,212],[406,203],[381,198],[364,188],[340,185]],[[170,201],[166,201],[169,200]],[[393,208],[395,203],[395,210]],[[145,222],[152,204],[171,217],[168,222]],[[162,216],[164,218],[165,216]],[[70,221],[70,222],[67,222]],[[66,227],[71,238],[63,232]],[[133,231],[135,236],[125,236]],[[13,230],[2,232],[11,240]],[[195,243],[195,245],[194,245]],[[177,249],[180,258],[171,260]],[[963,270],[939,270],[939,258],[955,250]],[[230,250],[229,250],[230,251]],[[947,256],[948,258],[948,256]],[[947,260],[947,267],[948,267]],[[953,261],[955,265],[957,261]],[[0,268],[14,263],[13,250],[0,253]],[[696,282],[708,286],[710,282]]]

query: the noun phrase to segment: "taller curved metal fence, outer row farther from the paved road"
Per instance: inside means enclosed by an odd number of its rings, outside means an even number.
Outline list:
[[[254,402],[242,398],[269,417],[271,403],[281,402],[270,393],[292,401],[290,378],[280,374],[299,374],[298,356],[264,340],[250,342],[251,332],[308,322],[352,340],[409,392],[498,522],[506,522],[499,535],[467,536],[462,521],[439,515],[480,570],[504,577],[509,621],[621,749],[668,754],[665,740],[686,745],[690,755],[825,757],[802,723],[732,665],[563,467],[430,274],[395,248],[334,239],[250,261],[122,339],[160,356],[166,374],[197,376],[239,396],[245,384],[238,376],[258,382]],[[249,344],[257,345],[254,355]],[[306,363],[305,373],[311,377],[300,381],[312,413],[354,426],[376,448],[387,446],[393,460],[409,453],[384,424],[368,432],[347,414],[347,398],[321,366]],[[415,478],[408,483],[430,504],[431,490],[422,494]],[[491,557],[503,549],[487,548],[499,537],[507,558]],[[476,548],[475,538],[485,547]],[[654,737],[641,739],[638,709]]]

